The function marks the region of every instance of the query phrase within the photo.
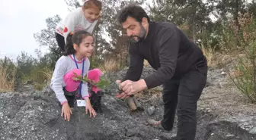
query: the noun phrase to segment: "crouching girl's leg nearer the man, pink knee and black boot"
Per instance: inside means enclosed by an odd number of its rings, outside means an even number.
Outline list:
[[[102,75],[102,72],[100,69],[92,69],[88,72],[88,79],[90,79],[92,82],[97,83],[100,81],[100,77]],[[97,86],[94,86],[93,84],[90,84],[90,99],[91,99],[91,105],[96,110],[97,113],[102,113],[101,110],[101,96],[103,95],[103,92],[101,89],[99,89]]]

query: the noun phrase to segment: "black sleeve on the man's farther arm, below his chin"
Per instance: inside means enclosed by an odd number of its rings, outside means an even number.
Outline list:
[[[143,70],[143,61],[144,58],[139,54],[136,48],[130,44],[129,46],[129,54],[130,54],[130,66],[126,72],[126,76],[122,79],[122,82],[126,79],[130,79],[131,81],[138,81]]]

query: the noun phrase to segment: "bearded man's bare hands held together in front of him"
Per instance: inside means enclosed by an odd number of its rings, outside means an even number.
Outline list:
[[[127,98],[130,95],[135,95],[136,93],[147,88],[146,82],[144,79],[140,79],[137,82],[133,82],[131,80],[126,80],[121,82],[120,80],[116,81],[119,84],[119,88],[123,90],[123,93],[116,95],[117,98]]]

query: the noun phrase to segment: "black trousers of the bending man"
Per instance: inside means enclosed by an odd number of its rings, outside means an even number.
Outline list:
[[[194,140],[197,129],[197,101],[206,85],[207,64],[195,67],[181,79],[171,79],[164,84],[165,114],[162,126],[171,130],[177,108],[178,140]]]

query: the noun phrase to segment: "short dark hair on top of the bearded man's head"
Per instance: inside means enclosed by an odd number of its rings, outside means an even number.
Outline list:
[[[146,17],[148,19],[148,22],[150,21],[148,14],[146,14],[146,11],[144,11],[142,7],[136,4],[130,4],[123,8],[119,12],[119,14],[117,14],[117,21],[119,23],[124,23],[127,17],[133,17],[140,23],[142,22],[143,17]]]

